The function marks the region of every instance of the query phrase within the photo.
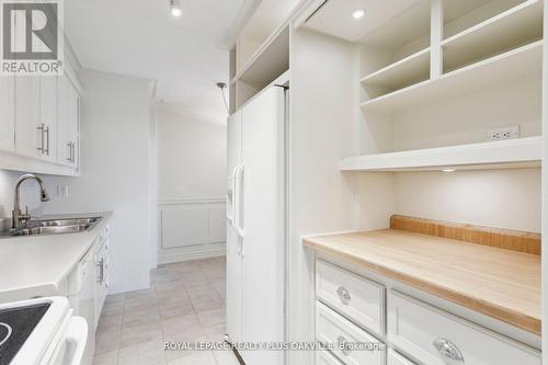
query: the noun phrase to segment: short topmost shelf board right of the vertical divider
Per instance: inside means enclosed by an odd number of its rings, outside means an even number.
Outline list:
[[[543,37],[543,1],[528,0],[442,43],[444,68],[455,69]]]

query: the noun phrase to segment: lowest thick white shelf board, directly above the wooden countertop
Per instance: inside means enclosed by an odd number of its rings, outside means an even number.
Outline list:
[[[540,167],[543,137],[349,157],[342,171],[421,171]]]

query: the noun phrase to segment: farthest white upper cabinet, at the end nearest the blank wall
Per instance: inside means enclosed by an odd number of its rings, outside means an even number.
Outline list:
[[[58,82],[58,157],[59,163],[78,166],[78,140],[80,123],[80,96],[67,77],[59,78]]]

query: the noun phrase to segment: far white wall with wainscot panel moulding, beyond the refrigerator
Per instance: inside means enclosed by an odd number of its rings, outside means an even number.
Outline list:
[[[159,104],[157,133],[159,262],[224,254],[226,115]]]

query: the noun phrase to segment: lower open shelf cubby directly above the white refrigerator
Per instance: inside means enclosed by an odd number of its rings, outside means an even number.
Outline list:
[[[289,68],[289,27],[276,30],[232,79],[265,87]]]

